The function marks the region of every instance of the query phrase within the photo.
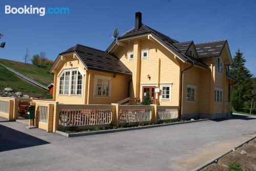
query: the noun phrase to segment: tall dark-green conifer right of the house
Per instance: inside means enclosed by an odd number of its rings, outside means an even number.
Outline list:
[[[234,84],[232,91],[232,104],[236,111],[242,111],[245,108],[249,109],[250,97],[252,92],[252,74],[245,67],[246,59],[243,53],[238,49],[233,57],[233,65],[230,68],[230,73],[238,79],[238,83]]]

